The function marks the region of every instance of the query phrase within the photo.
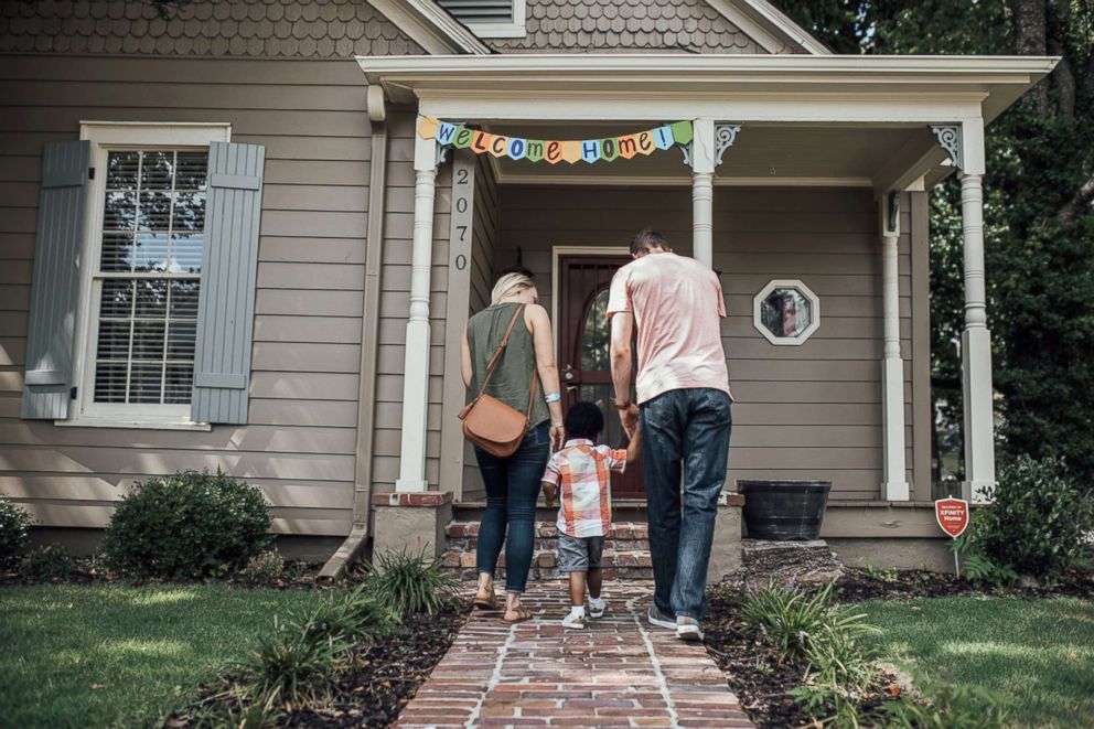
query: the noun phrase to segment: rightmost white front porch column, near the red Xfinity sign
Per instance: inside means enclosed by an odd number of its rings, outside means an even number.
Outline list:
[[[962,496],[986,501],[980,491],[995,484],[991,388],[991,333],[984,281],[984,121],[961,126],[961,221],[964,237],[965,331],[961,335],[965,420],[965,481]]]

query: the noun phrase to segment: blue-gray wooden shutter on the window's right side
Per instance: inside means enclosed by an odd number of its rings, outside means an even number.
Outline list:
[[[247,422],[265,160],[259,144],[210,144],[190,408],[195,422]]]

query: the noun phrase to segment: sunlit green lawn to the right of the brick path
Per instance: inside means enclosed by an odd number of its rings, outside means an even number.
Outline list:
[[[1094,727],[1094,602],[967,597],[855,607],[884,630],[883,656],[1001,694],[1015,726]]]

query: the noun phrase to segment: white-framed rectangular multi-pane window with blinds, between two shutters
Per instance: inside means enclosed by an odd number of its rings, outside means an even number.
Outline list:
[[[126,133],[127,130],[130,133]],[[208,142],[224,125],[85,125],[89,190],[74,425],[185,426]]]

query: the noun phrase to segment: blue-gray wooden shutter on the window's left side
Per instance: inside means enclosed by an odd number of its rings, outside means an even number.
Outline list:
[[[90,149],[88,141],[49,142],[42,153],[22,406],[28,419],[68,417]]]

